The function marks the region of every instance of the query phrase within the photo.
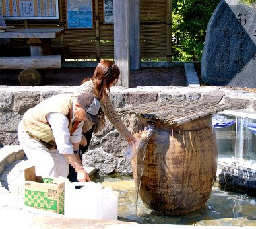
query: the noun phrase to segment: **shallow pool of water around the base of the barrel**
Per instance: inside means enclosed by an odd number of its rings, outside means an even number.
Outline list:
[[[107,177],[101,182],[119,195],[119,220],[141,224],[256,226],[256,198],[223,191],[217,182],[214,183],[205,207],[183,216],[158,214],[146,208],[140,197],[136,203],[136,188],[132,177]]]

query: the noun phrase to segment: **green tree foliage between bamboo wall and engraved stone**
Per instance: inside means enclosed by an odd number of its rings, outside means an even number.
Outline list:
[[[207,24],[220,0],[172,0],[173,61],[201,61]]]

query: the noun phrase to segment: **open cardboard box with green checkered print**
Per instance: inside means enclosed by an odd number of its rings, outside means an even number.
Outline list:
[[[24,170],[24,204],[26,206],[64,214],[64,190],[67,178],[36,176],[35,167]]]

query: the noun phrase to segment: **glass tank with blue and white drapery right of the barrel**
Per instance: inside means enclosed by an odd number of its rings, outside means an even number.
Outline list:
[[[256,170],[256,118],[216,114],[218,162]]]

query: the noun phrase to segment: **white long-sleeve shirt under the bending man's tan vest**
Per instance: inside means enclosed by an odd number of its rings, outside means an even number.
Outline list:
[[[51,125],[55,143],[60,154],[73,154],[72,143],[81,141],[82,127],[84,121],[79,123],[72,136],[69,131],[69,120],[65,114],[49,113],[46,116],[47,121]],[[75,117],[71,121],[75,120]]]

